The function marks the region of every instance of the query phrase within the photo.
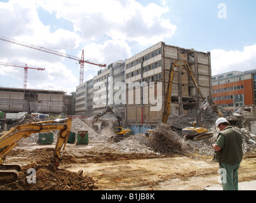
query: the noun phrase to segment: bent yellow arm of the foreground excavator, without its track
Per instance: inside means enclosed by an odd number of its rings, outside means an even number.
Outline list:
[[[32,133],[43,133],[46,131],[59,130],[58,139],[51,162],[58,166],[62,159],[62,150],[65,150],[67,139],[71,130],[71,119],[57,119],[55,121],[32,122],[11,128],[0,137],[0,164],[3,163],[6,155],[24,138]]]

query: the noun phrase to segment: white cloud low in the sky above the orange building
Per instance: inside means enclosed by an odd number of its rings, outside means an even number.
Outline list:
[[[212,75],[233,70],[245,71],[256,69],[256,44],[245,46],[243,51],[226,51],[213,49],[211,51]]]

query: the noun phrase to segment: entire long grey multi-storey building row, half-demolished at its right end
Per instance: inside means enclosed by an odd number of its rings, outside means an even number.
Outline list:
[[[203,95],[212,96],[212,70],[210,53],[166,45],[154,44],[135,56],[111,63],[93,77],[93,113],[107,107],[119,108],[123,121],[133,133],[156,126],[163,119],[165,95],[173,60],[189,63]],[[172,81],[171,115],[173,118],[197,112],[203,99],[189,74],[182,68]],[[77,87],[76,107],[84,105],[85,87]],[[76,101],[77,101],[76,100]],[[83,107],[84,108],[84,107]],[[77,112],[78,108],[76,108]],[[120,115],[120,114],[119,114]]]

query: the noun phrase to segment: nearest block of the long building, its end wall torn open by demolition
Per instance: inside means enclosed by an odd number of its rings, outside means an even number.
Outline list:
[[[212,96],[209,52],[179,48],[163,42],[154,44],[126,60],[126,122],[133,133],[145,131],[146,128],[152,128],[162,121],[170,66],[173,60],[188,62],[203,95]],[[136,88],[129,88],[129,83],[130,87],[140,87],[142,82],[146,87],[145,90],[141,88],[143,93]],[[179,115],[197,112],[199,103],[202,101],[189,75],[180,68],[173,77],[171,115],[168,123],[173,123],[173,118]]]

